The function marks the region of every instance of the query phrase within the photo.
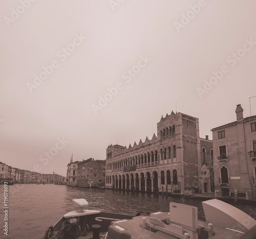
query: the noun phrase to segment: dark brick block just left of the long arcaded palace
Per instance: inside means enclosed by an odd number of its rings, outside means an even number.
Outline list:
[[[77,186],[98,187],[105,185],[105,160],[89,158],[78,163]]]

